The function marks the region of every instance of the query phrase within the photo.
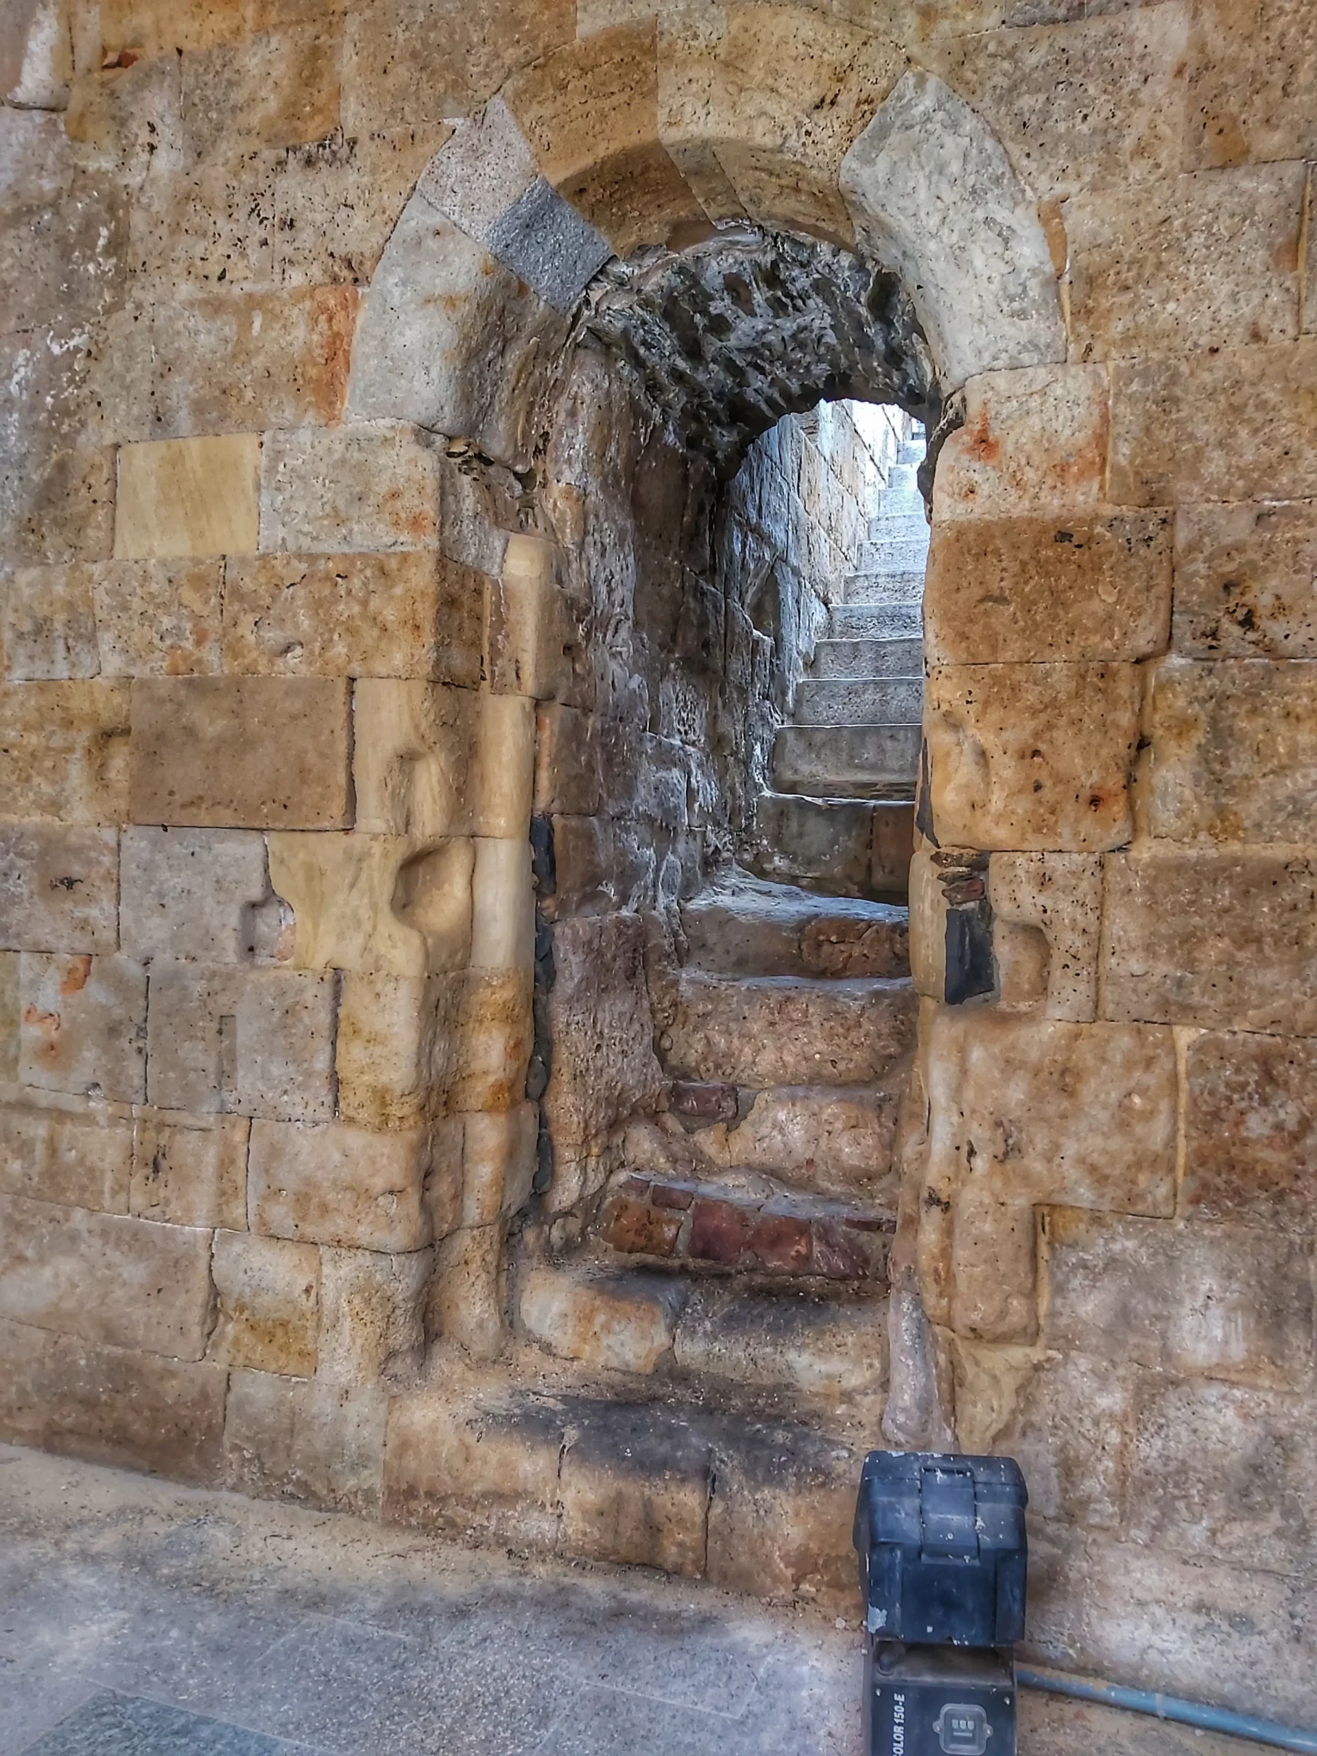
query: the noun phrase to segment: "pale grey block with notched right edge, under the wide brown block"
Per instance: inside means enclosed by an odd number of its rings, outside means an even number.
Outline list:
[[[121,862],[123,948],[132,957],[239,964],[262,948],[256,911],[270,883],[256,831],[125,829]]]

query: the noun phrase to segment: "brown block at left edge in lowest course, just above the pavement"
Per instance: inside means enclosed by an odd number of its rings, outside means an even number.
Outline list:
[[[18,1445],[218,1480],[228,1373],[0,1321],[0,1431]]]

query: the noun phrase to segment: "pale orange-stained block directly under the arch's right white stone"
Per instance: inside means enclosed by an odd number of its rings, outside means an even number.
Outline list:
[[[1162,435],[1164,443],[1164,435]],[[966,420],[941,448],[932,523],[1096,515],[1105,499],[1108,388],[1099,365],[987,372],[966,385]],[[1112,492],[1115,500],[1131,500]],[[1157,504],[1157,495],[1138,497]]]

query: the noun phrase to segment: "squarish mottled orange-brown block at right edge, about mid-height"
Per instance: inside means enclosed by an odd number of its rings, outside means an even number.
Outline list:
[[[1152,688],[1154,836],[1312,841],[1317,662],[1169,658]]]

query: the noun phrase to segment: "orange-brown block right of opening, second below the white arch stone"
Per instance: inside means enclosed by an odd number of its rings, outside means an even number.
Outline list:
[[[1147,658],[1166,650],[1169,620],[1166,513],[955,518],[932,529],[931,664]]]

